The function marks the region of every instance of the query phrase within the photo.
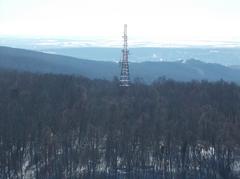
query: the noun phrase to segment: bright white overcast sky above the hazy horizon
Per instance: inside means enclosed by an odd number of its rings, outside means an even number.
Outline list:
[[[240,0],[0,0],[0,35],[240,41]]]

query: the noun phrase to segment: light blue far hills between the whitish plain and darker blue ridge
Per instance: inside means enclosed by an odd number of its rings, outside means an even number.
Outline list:
[[[41,51],[59,55],[67,55],[76,58],[91,59],[97,61],[119,61],[121,48],[108,47],[81,47],[81,48],[50,48]],[[141,47],[130,48],[129,61],[179,61],[197,59],[206,63],[218,63],[222,65],[240,65],[240,48],[159,48]]]

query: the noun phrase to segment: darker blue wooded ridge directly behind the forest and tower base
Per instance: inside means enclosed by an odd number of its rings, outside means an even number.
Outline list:
[[[48,54],[31,50],[0,47],[0,68],[38,73],[74,74],[112,80],[119,76],[119,64]],[[226,80],[240,82],[240,69],[198,60],[130,63],[131,79],[152,82],[165,76],[177,81]]]

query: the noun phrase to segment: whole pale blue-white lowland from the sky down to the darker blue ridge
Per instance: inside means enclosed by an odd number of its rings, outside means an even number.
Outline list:
[[[0,37],[0,46],[23,48],[97,61],[119,61],[121,39]],[[149,42],[129,39],[131,62],[196,59],[226,66],[240,65],[240,43],[234,41]]]

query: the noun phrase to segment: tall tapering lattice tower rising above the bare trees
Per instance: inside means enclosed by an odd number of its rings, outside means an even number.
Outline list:
[[[124,24],[124,34],[123,34],[123,49],[122,49],[122,59],[120,61],[121,74],[120,74],[120,86],[130,86],[130,75],[129,75],[129,64],[128,64],[128,36],[127,36],[127,24]]]

